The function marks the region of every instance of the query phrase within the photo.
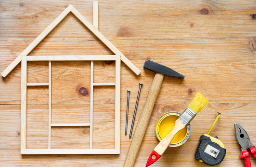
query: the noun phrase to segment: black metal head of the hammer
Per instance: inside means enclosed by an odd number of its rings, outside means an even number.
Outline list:
[[[150,70],[150,71],[154,71],[160,74],[164,74],[170,77],[177,77],[177,78],[182,78],[184,79],[185,77],[183,75],[181,75],[180,73],[170,69],[169,67],[163,66],[161,64],[152,62],[150,60],[146,60],[144,63],[144,68]]]

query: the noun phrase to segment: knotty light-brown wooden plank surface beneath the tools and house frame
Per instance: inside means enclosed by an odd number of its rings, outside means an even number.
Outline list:
[[[2,72],[69,4],[92,23],[92,1],[0,1],[0,72]],[[206,133],[218,111],[210,135],[227,149],[221,167],[244,166],[234,123],[256,144],[256,1],[131,0],[99,1],[99,31],[136,67],[136,76],[121,63],[120,155],[21,155],[21,65],[0,77],[0,166],[115,166],[123,165],[131,140],[125,136],[127,90],[131,90],[128,131],[139,83],[143,83],[134,126],[138,122],[154,72],[143,69],[146,59],[168,66],[184,80],[165,77],[137,156],[145,166],[158,144],[154,127],[169,111],[182,112],[197,92],[210,103],[191,122],[188,141],[168,148],[152,165],[206,166],[195,160],[200,135]],[[96,52],[95,52],[96,51]],[[75,16],[68,16],[29,55],[113,54]],[[108,63],[109,64],[109,63]],[[114,63],[94,65],[94,82],[113,82]],[[48,82],[48,62],[28,63],[28,82]],[[52,123],[89,123],[89,62],[52,63]],[[87,94],[84,93],[84,91]],[[114,86],[93,90],[93,148],[114,148]],[[135,128],[133,129],[133,131]],[[52,148],[89,148],[88,127],[52,128]],[[48,87],[27,90],[27,148],[48,148]],[[256,160],[250,155],[252,166]]]

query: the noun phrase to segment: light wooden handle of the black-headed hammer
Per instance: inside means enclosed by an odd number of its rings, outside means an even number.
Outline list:
[[[156,98],[162,86],[164,76],[165,76],[164,74],[160,74],[160,73],[155,74],[154,80],[150,86],[150,89],[147,95],[146,103],[143,107],[134,135],[132,137],[132,142],[131,142],[123,167],[133,167],[134,165],[137,154],[139,152],[139,148],[142,144],[144,135],[147,130],[147,125],[150,120]]]

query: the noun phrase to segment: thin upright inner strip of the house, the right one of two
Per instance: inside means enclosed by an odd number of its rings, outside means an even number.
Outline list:
[[[92,149],[92,135],[93,135],[93,61],[91,61],[91,75],[90,75],[90,149]]]

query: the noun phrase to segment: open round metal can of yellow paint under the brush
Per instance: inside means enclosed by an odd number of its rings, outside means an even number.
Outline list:
[[[162,141],[173,129],[175,121],[181,115],[179,112],[171,111],[163,114],[156,122],[155,134],[159,141]],[[190,123],[187,127],[180,130],[171,141],[169,147],[183,145],[189,138],[191,132]]]

